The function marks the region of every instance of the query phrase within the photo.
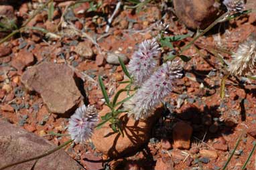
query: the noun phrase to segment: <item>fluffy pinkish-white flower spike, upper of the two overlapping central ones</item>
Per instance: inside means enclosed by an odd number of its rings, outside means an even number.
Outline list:
[[[141,86],[151,76],[157,66],[155,57],[159,55],[159,52],[159,44],[155,38],[147,39],[139,44],[139,49],[133,54],[128,64],[128,72],[133,77],[135,85]]]

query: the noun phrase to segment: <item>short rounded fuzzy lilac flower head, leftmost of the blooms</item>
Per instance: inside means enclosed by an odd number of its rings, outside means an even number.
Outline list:
[[[92,136],[92,131],[98,121],[98,113],[92,105],[80,106],[70,117],[68,132],[75,143],[86,141]]]

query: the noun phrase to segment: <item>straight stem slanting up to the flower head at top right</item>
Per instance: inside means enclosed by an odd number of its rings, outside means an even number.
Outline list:
[[[201,37],[202,35],[204,35],[206,32],[208,32],[210,29],[212,29],[212,27],[214,27],[217,23],[219,23],[222,19],[225,19],[225,17],[227,17],[227,15],[229,15],[229,12],[223,13],[220,17],[218,17],[218,19],[216,19],[213,23],[211,23],[208,27],[206,27],[206,29],[204,29],[201,33],[199,33],[198,35],[196,35],[196,37],[194,37],[192,39],[192,41],[190,41],[184,48],[182,48],[182,50],[180,50],[180,52],[178,54],[176,54],[175,56],[169,56],[165,59],[165,62],[167,62],[168,60],[174,60],[174,58],[176,58],[177,56],[179,56],[180,54],[182,54],[182,52],[184,52],[185,50],[188,50],[188,48],[190,48],[190,46],[192,46],[192,44],[194,44],[194,42]]]

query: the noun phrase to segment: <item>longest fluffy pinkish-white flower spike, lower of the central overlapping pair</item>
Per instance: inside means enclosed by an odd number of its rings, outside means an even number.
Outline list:
[[[166,62],[137,90],[134,96],[125,102],[125,110],[135,120],[147,118],[155,107],[172,91],[173,80],[182,77],[180,62]]]

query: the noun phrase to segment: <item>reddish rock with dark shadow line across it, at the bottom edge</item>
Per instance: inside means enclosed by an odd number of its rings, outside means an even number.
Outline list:
[[[103,159],[96,157],[92,153],[84,153],[81,156],[81,163],[88,170],[100,170],[103,169]]]

